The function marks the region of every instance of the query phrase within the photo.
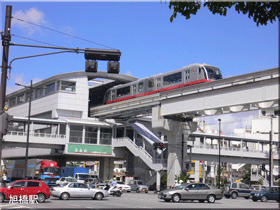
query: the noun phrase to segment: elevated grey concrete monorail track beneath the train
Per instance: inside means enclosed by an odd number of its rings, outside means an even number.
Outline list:
[[[228,77],[147,96],[92,107],[91,117],[124,119],[150,114],[161,107],[162,117],[226,114],[279,109],[279,68]]]

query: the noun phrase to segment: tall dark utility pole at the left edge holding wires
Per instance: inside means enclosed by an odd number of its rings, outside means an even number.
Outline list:
[[[11,19],[12,19],[12,6],[6,6],[6,19],[5,19],[5,30],[2,35],[2,72],[1,72],[1,97],[0,97],[0,108],[1,112],[5,107],[6,100],[6,83],[7,83],[7,70],[8,70],[8,58],[9,58],[9,45],[11,41]],[[2,162],[2,147],[3,147],[3,134],[0,134],[0,165]],[[2,168],[1,168],[2,169]]]

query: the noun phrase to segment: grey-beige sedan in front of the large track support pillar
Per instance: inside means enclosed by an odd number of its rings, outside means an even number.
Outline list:
[[[221,189],[211,188],[207,184],[192,183],[182,184],[175,189],[164,190],[159,192],[159,199],[166,202],[180,202],[180,200],[198,200],[203,203],[205,200],[208,203],[214,203],[215,200],[223,198],[223,191]]]

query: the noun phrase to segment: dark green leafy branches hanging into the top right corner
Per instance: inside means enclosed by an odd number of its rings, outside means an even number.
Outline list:
[[[177,17],[177,13],[190,19],[191,15],[196,15],[201,9],[201,1],[173,1],[169,3],[169,8],[172,9],[173,15],[170,17],[170,22]],[[280,17],[280,2],[204,2],[204,7],[207,7],[213,14],[227,15],[227,10],[235,7],[238,13],[248,14],[248,17],[253,17],[254,22],[261,25],[267,25],[270,21],[279,21]]]

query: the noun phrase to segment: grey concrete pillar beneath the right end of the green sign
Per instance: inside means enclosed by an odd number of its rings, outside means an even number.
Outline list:
[[[114,172],[114,159],[103,158],[100,161],[99,176],[103,180],[113,179]]]

